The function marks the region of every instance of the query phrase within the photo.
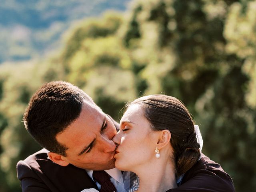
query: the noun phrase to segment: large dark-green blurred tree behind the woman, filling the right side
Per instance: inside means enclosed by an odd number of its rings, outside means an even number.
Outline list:
[[[145,66],[138,73],[145,92],[188,106],[207,141],[203,151],[237,191],[255,188],[255,2],[137,1],[123,38]]]

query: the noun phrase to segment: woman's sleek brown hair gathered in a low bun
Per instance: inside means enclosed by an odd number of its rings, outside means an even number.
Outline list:
[[[188,109],[180,100],[167,95],[149,95],[128,104],[138,104],[154,131],[169,130],[174,151],[176,174],[188,171],[200,157],[194,122]]]

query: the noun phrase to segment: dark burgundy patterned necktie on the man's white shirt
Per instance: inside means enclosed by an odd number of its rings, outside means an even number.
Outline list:
[[[116,192],[116,187],[110,181],[109,175],[105,171],[93,171],[92,177],[100,184],[100,192]]]

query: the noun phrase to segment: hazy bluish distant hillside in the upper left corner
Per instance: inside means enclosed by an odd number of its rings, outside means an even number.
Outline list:
[[[130,0],[1,0],[0,63],[22,61],[60,46],[60,36],[75,20],[123,11]]]

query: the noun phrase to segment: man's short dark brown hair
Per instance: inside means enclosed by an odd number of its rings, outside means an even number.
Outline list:
[[[96,105],[92,98],[64,81],[44,84],[30,99],[23,120],[26,130],[44,148],[66,156],[67,147],[56,140],[82,111],[84,100]]]

